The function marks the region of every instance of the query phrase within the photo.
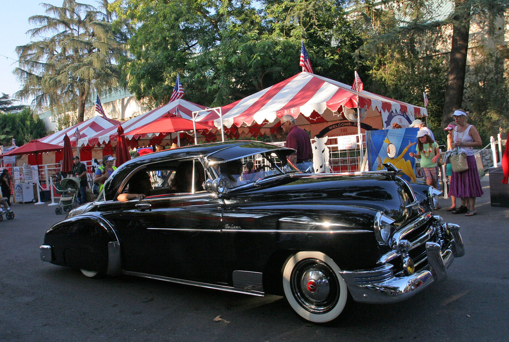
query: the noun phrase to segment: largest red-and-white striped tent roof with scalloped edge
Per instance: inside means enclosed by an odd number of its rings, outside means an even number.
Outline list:
[[[359,107],[367,111],[367,117],[381,117],[378,120],[383,128],[386,118],[406,115],[406,120],[427,116],[424,107],[363,91],[359,95]],[[279,127],[278,118],[289,114],[297,119],[297,124],[327,123],[345,120],[342,116],[346,108],[357,108],[357,93],[351,86],[315,74],[300,72],[274,86],[256,94],[221,107],[222,122],[226,128],[245,127],[251,134],[269,134]],[[214,124],[220,128],[216,113],[199,115],[196,121]],[[411,123],[411,121],[409,123]],[[382,128],[382,127],[379,127]]]

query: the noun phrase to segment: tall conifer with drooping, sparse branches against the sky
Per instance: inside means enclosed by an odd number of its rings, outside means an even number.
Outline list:
[[[30,17],[39,26],[28,32],[40,40],[16,47],[19,67],[14,73],[23,84],[16,96],[32,100],[38,109],[77,110],[81,122],[87,101],[117,86],[115,63],[124,51],[112,31],[110,12],[75,0],[64,0],[61,7],[41,5],[46,15]]]

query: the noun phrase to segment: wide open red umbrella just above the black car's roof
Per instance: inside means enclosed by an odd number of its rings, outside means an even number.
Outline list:
[[[211,129],[211,126],[199,122],[194,123],[196,129]],[[124,135],[144,135],[151,133],[172,133],[193,130],[192,120],[177,117],[173,114],[165,114],[159,119],[135,128]]]

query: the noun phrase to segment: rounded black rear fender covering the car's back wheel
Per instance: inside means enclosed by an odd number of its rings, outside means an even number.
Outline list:
[[[115,275],[120,272],[120,244],[114,228],[103,218],[80,215],[53,225],[44,236],[51,263]]]

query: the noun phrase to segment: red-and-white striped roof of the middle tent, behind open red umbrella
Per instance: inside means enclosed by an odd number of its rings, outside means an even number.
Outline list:
[[[177,99],[172,102],[168,102],[165,105],[162,105],[158,108],[155,108],[149,112],[146,112],[142,115],[139,115],[135,118],[129,119],[126,122],[121,124],[122,128],[125,132],[129,132],[133,129],[151,123],[166,113],[175,114],[175,112],[179,111],[179,115],[188,120],[192,120],[192,112],[197,110],[204,110],[207,107],[202,106],[200,104],[196,104],[190,101],[186,101],[184,99]],[[155,134],[157,136],[157,134]],[[154,135],[151,135],[154,136]],[[150,136],[150,137],[151,137]],[[132,136],[126,136],[128,139],[132,138]],[[114,142],[117,138],[117,126],[109,129],[105,129],[93,136],[89,136],[86,138],[79,139],[80,146],[100,146],[108,143]]]

